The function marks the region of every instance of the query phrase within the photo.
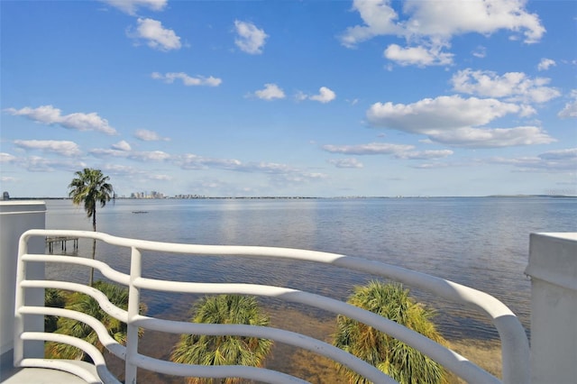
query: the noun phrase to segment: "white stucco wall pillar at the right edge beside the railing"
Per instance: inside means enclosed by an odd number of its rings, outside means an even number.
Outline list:
[[[577,233],[531,233],[531,381],[577,379]]]

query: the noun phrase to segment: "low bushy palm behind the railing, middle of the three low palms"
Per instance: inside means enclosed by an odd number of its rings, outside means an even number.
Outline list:
[[[194,306],[193,323],[269,325],[269,317],[262,315],[256,297],[219,295],[204,297]],[[270,352],[272,341],[256,337],[210,336],[182,334],[170,360],[197,365],[246,365],[261,367]],[[238,378],[222,380],[188,378],[188,383],[241,382]]]

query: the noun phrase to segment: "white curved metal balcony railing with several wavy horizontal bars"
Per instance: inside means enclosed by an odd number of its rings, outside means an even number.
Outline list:
[[[102,261],[85,258],[29,254],[27,243],[34,236],[73,236],[78,238],[96,239],[115,246],[132,250],[130,274],[112,269]],[[16,367],[43,367],[66,370],[85,379],[87,382],[119,382],[107,369],[103,355],[89,343],[63,334],[46,334],[27,332],[24,329],[25,315],[55,315],[67,316],[91,326],[98,335],[106,350],[125,361],[125,382],[136,382],[136,370],[142,368],[160,373],[182,377],[223,378],[234,377],[254,379],[264,382],[306,382],[285,373],[261,368],[245,366],[198,366],[162,361],[138,352],[139,327],[145,330],[160,331],[169,334],[209,334],[209,335],[243,335],[266,338],[280,343],[287,343],[316,352],[333,361],[356,371],[372,382],[396,382],[389,376],[377,370],[372,365],[362,361],[348,352],[343,352],[333,345],[316,340],[303,334],[296,334],[282,329],[252,325],[207,325],[189,322],[177,322],[139,315],[141,306],[141,290],[151,289],[165,292],[203,293],[203,294],[243,294],[261,297],[276,297],[281,300],[315,306],[334,314],[346,315],[366,325],[371,325],[386,334],[407,343],[432,360],[442,364],[458,377],[471,383],[500,382],[485,370],[468,361],[463,356],[444,346],[433,342],[421,334],[398,325],[380,315],[351,306],[342,301],[298,289],[261,286],[254,284],[206,284],[196,282],[177,282],[161,279],[142,278],[141,251],[162,251],[181,254],[200,255],[230,255],[237,257],[267,257],[291,259],[298,261],[315,261],[331,264],[350,270],[360,270],[388,279],[397,280],[408,286],[421,288],[436,296],[444,297],[455,303],[469,306],[488,315],[499,332],[502,348],[502,375],[505,383],[529,382],[529,347],[525,331],[507,306],[495,297],[481,291],[464,287],[452,281],[435,278],[419,272],[390,266],[378,261],[368,261],[360,258],[343,256],[321,251],[306,251],[287,248],[252,247],[252,246],[219,246],[195,245],[168,242],[150,242],[111,236],[105,233],[85,231],[55,231],[31,230],[23,233],[20,240],[18,255],[18,270],[16,280],[15,318],[14,318],[14,365]],[[107,279],[121,284],[129,289],[128,310],[114,306],[105,295],[96,288],[67,281],[27,279],[25,265],[27,262],[43,261],[65,264],[83,265],[99,270]],[[117,343],[106,331],[105,325],[96,318],[68,309],[45,306],[26,306],[24,291],[26,288],[60,288],[78,291],[94,297],[101,308],[111,316],[127,324],[126,346]],[[30,359],[24,356],[25,340],[42,340],[58,343],[69,343],[87,353],[94,361],[98,378],[91,377],[89,372],[81,371],[78,365],[68,361]]]

